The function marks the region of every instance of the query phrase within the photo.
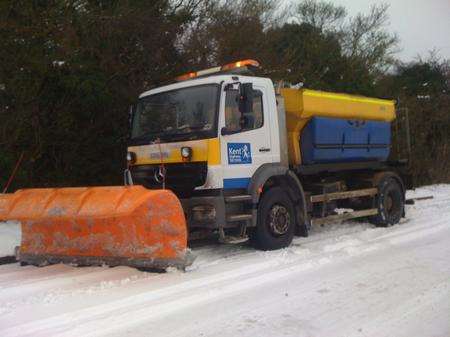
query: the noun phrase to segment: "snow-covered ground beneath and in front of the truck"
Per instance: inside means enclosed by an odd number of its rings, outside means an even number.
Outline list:
[[[448,337],[450,185],[408,196],[425,195],[391,228],[317,227],[275,252],[204,246],[186,273],[0,266],[0,336]]]

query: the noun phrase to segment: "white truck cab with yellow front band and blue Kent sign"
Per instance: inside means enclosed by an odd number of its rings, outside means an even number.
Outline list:
[[[239,100],[242,87],[249,84],[253,91],[251,111],[241,113]],[[208,165],[205,181],[194,189],[228,190],[248,188],[258,168],[264,164],[281,163],[277,101],[270,79],[241,75],[209,76],[147,91],[140,96],[140,102],[165,93],[171,93],[171,97],[181,97],[183,91],[189,91],[186,94],[196,100],[190,108],[195,110],[200,107],[200,110],[196,111],[201,115],[198,116],[199,121],[192,121],[197,123],[195,128],[189,128],[186,121],[174,119],[168,123],[178,123],[176,127],[181,127],[181,131],[173,133],[173,137],[165,138],[161,134],[164,130],[156,133],[155,137],[137,137],[137,141],[132,137],[129,152],[133,153],[133,164],[181,163],[186,166],[188,162],[206,161]],[[209,102],[201,102],[202,96]],[[180,100],[178,104],[182,106],[190,103]],[[209,111],[205,112],[205,106],[208,104]],[[196,112],[192,110],[189,117],[194,118]],[[139,127],[136,120],[142,116],[151,118],[137,112],[133,118],[135,128]],[[202,120],[205,117],[207,121]],[[175,124],[168,125],[165,130],[170,134],[174,128]],[[201,132],[198,132],[199,128],[202,129]],[[203,133],[206,129],[208,132]],[[282,130],[285,130],[284,125]],[[285,132],[283,137],[286,137]],[[189,145],[192,145],[191,158],[183,161],[181,149]],[[170,185],[169,178],[166,183]]]

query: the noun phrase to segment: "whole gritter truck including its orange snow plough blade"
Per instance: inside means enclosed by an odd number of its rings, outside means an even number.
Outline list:
[[[395,103],[286,87],[243,60],[143,93],[130,113],[125,186],[0,194],[22,264],[184,268],[214,235],[289,246],[313,225],[405,215],[405,174],[389,159]]]

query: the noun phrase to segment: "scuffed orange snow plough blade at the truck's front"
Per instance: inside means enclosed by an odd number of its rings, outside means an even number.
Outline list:
[[[0,221],[22,226],[18,252],[33,265],[184,268],[192,263],[178,198],[142,186],[27,189],[0,194]]]

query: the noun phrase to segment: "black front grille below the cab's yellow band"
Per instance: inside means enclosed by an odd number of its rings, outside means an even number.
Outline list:
[[[206,162],[164,164],[166,171],[166,188],[172,190],[179,198],[188,198],[195,187],[206,182],[208,166]],[[162,188],[155,175],[160,165],[138,165],[130,168],[133,182],[150,189]]]

